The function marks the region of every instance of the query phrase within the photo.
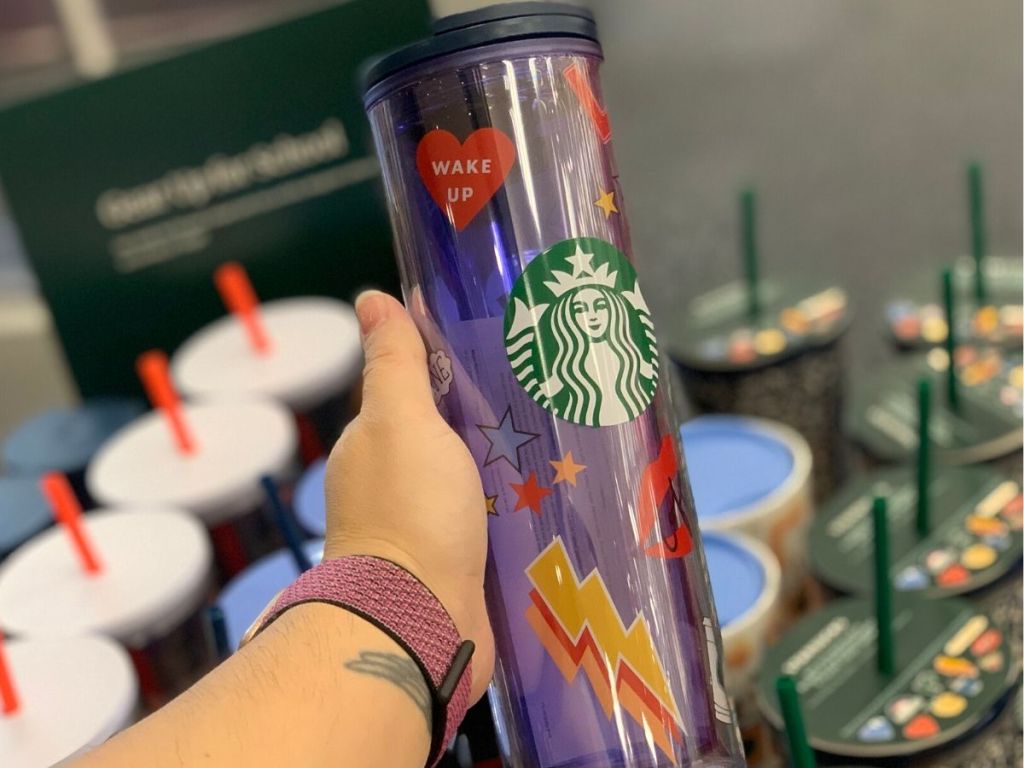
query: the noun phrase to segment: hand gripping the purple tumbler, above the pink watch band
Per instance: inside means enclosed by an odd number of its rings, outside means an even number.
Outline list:
[[[476,644],[473,700],[494,668],[483,603],[487,523],[472,456],[434,406],[412,317],[372,291],[356,300],[366,372],[362,408],[328,462],[325,559],[376,555],[437,596]]]

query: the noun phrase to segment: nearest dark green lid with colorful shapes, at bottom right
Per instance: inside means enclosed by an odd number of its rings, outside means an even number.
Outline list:
[[[791,629],[765,655],[758,700],[781,728],[775,679],[797,682],[815,750],[896,759],[944,749],[985,726],[1017,684],[1007,629],[957,598],[893,604],[891,677],[878,671],[874,609],[837,600]]]

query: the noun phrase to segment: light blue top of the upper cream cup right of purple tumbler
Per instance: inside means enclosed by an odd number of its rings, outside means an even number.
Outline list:
[[[793,451],[757,423],[701,416],[679,430],[697,517],[710,519],[756,504],[793,473]]]

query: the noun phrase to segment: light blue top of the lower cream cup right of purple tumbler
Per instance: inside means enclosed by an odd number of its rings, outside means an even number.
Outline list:
[[[765,588],[765,569],[741,542],[714,532],[700,534],[719,624],[725,628],[754,607]]]

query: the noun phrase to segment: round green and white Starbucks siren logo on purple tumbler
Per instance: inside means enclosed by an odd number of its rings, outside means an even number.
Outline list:
[[[610,243],[566,240],[535,258],[505,310],[519,384],[567,421],[632,421],[657,388],[657,341],[636,271]]]

